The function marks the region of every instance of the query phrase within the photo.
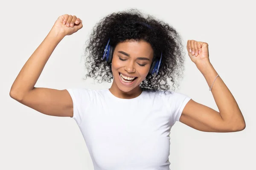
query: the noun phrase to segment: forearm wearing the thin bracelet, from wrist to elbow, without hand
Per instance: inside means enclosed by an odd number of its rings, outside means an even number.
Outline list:
[[[234,96],[231,94],[220,76],[215,79],[218,73],[215,71],[212,64],[207,62],[200,66],[197,65],[197,67],[206,79],[209,88],[212,87],[211,92],[219,109],[221,118],[227,122],[228,125],[231,125],[234,128],[239,126],[244,127],[244,117]],[[213,83],[214,79],[215,82]]]

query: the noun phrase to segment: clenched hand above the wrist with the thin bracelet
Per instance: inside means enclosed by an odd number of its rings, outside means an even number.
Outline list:
[[[209,61],[209,50],[206,42],[198,42],[195,40],[188,40],[186,46],[189,57],[195,65],[204,65]]]

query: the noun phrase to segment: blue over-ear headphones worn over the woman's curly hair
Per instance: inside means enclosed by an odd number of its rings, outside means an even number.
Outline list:
[[[147,26],[148,28],[152,28],[151,26],[149,26],[146,23],[142,23],[142,22],[138,22],[138,23],[141,23],[141,24]],[[109,45],[109,42],[110,42],[110,39],[108,39],[108,43],[105,47],[102,59],[105,59],[107,62],[111,63],[112,58],[113,58],[113,47],[111,45]],[[152,75],[154,75],[154,73],[156,73],[156,75],[158,74],[158,71],[159,71],[159,68],[160,68],[160,65],[161,65],[161,61],[162,61],[162,52],[161,52],[160,60],[155,59],[152,62],[151,66],[150,66],[150,69],[149,69],[150,74],[152,74]]]

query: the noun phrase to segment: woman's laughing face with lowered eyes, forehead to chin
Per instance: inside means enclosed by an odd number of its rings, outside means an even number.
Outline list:
[[[116,45],[112,59],[113,83],[123,92],[139,88],[148,75],[154,51],[148,42],[130,41]]]

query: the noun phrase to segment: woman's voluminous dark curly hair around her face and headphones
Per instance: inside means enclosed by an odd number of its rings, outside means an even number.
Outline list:
[[[145,24],[151,26],[149,29]],[[183,54],[182,40],[177,31],[161,20],[155,19],[151,15],[143,16],[137,9],[114,12],[107,15],[93,27],[88,45],[85,48],[85,66],[88,70],[87,77],[97,79],[98,82],[111,82],[113,74],[111,63],[102,60],[103,52],[108,39],[113,48],[119,42],[125,41],[145,41],[151,44],[154,50],[154,59],[160,59],[163,53],[162,62],[157,75],[148,74],[140,83],[144,90],[169,90],[170,82],[173,87],[177,78],[183,77],[185,55]],[[179,85],[178,85],[179,86]],[[175,88],[175,87],[174,87]]]

